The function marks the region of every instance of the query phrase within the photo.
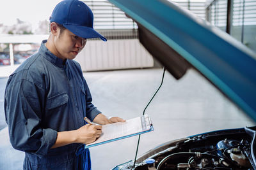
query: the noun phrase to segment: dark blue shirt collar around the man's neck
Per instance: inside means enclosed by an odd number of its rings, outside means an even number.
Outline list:
[[[46,42],[47,40],[42,41],[39,53],[42,53],[42,56],[44,56],[45,59],[49,60],[49,62],[51,62],[52,64],[56,66],[63,66],[63,60],[56,57],[56,55],[54,55],[48,50],[48,48],[45,46]]]

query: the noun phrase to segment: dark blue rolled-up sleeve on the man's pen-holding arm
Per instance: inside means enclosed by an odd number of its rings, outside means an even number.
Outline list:
[[[16,77],[16,78],[15,78]],[[10,77],[4,96],[4,111],[13,148],[46,155],[57,132],[41,127],[44,89],[28,80]]]

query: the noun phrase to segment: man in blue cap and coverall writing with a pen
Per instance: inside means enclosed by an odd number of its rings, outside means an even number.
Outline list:
[[[13,148],[24,151],[24,169],[91,169],[84,145],[101,134],[108,119],[92,104],[79,64],[72,60],[88,38],[102,35],[93,29],[90,8],[78,0],[61,1],[54,8],[51,34],[35,55],[9,78],[4,111]],[[88,117],[99,125],[89,125]]]

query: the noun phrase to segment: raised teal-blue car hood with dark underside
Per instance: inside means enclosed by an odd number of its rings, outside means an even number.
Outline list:
[[[131,17],[140,42],[177,79],[194,67],[256,122],[256,54],[164,0],[109,0]]]

